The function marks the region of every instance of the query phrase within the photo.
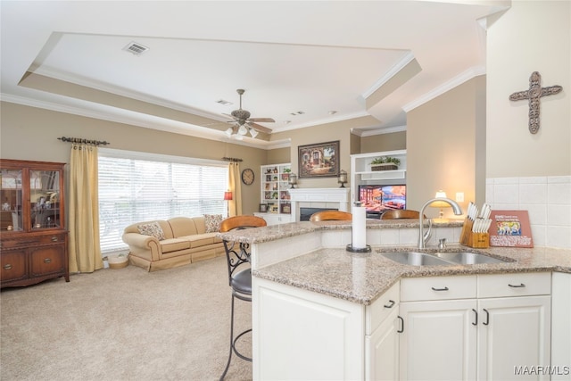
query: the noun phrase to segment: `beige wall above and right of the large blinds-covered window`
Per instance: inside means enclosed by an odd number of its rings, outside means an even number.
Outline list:
[[[58,137],[106,140],[108,148],[220,160],[241,158],[240,168],[260,170],[267,151],[198,137],[95,120],[62,112],[51,112],[19,104],[2,103],[0,157],[3,159],[69,162],[70,144]],[[260,179],[243,186],[243,212],[258,211]]]

